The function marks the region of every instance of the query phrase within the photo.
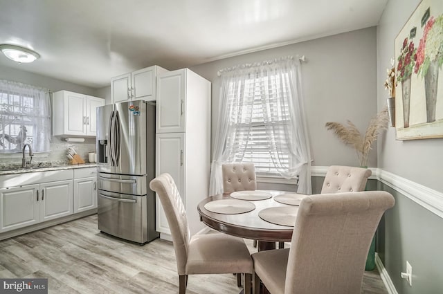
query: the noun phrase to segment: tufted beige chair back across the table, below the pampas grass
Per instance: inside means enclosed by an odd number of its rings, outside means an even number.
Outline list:
[[[327,170],[320,193],[361,192],[371,174],[366,168],[332,165]]]

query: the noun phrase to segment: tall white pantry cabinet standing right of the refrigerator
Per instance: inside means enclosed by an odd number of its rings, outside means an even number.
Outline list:
[[[156,175],[174,178],[194,235],[204,228],[197,205],[209,192],[210,82],[188,68],[170,71],[157,77],[156,96]],[[156,230],[169,239],[158,200]]]

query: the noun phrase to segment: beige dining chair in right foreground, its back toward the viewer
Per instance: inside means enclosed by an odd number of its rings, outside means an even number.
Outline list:
[[[253,253],[254,293],[360,294],[369,246],[388,192],[316,194],[302,199],[291,248]]]

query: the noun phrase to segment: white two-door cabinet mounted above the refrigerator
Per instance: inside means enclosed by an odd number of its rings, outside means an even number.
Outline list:
[[[168,70],[160,66],[150,66],[132,73],[125,73],[111,79],[111,101],[156,100],[156,77]]]

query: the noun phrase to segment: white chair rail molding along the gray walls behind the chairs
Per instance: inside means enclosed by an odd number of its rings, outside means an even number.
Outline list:
[[[311,176],[325,176],[329,167],[315,166],[311,169]],[[420,185],[413,181],[397,176],[390,172],[386,172],[379,168],[370,168],[372,176],[370,179],[377,179],[381,183],[388,185],[397,192],[408,197],[418,205],[437,214],[443,219],[443,193],[437,192],[429,187]]]

